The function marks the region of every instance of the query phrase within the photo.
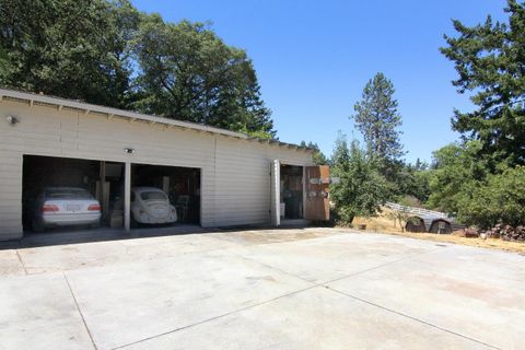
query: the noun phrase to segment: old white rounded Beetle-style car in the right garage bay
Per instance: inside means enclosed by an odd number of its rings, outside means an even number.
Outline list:
[[[131,213],[138,223],[158,224],[177,221],[177,211],[166,194],[155,187],[131,188]]]

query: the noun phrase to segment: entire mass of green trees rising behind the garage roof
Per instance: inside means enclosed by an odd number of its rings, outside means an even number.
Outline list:
[[[1,1],[0,85],[276,136],[243,49],[128,0]]]

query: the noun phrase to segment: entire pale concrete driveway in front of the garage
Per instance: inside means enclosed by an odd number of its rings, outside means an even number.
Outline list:
[[[523,349],[525,257],[337,229],[0,250],[0,349]]]

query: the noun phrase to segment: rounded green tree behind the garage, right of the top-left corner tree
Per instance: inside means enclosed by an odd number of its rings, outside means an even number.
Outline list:
[[[252,61],[202,23],[145,18],[135,38],[138,109],[275,137]]]

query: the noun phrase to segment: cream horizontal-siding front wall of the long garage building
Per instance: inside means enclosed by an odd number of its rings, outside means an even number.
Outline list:
[[[270,161],[312,164],[304,150],[56,106],[3,100],[0,118],[0,240],[22,235],[23,154],[199,167],[205,228],[269,222]]]

